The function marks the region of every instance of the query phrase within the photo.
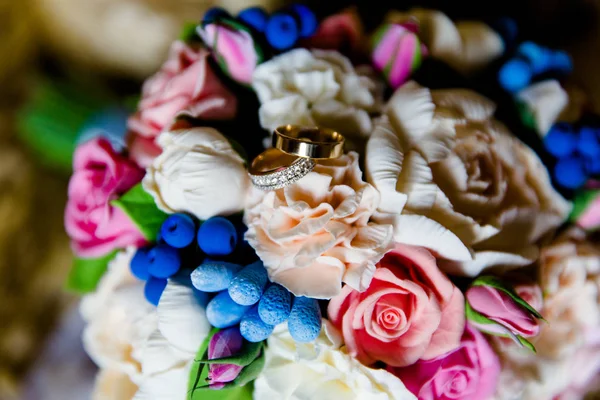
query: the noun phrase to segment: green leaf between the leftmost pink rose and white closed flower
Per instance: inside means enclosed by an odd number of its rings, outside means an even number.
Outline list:
[[[160,226],[168,217],[168,214],[156,207],[154,198],[146,193],[141,183],[132,187],[120,198],[113,200],[111,204],[127,214],[150,242],[156,241]]]

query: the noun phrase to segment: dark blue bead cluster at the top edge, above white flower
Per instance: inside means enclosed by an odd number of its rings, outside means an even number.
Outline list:
[[[203,24],[232,19],[224,9],[209,9]],[[275,51],[286,51],[294,47],[298,40],[310,37],[317,30],[317,17],[308,7],[294,4],[271,15],[260,7],[250,7],[237,15],[237,20],[264,36],[267,44]]]

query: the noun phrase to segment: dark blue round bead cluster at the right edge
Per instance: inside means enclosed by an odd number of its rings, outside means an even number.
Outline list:
[[[562,187],[578,189],[590,176],[600,175],[600,128],[555,124],[544,137],[544,147],[557,158],[554,179]]]

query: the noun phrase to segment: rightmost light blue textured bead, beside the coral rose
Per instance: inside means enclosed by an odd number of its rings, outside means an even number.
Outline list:
[[[290,335],[296,342],[308,343],[321,332],[321,309],[316,299],[296,297],[288,320]]]

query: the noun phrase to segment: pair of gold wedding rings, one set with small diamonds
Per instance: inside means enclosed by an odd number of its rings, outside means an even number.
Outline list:
[[[273,132],[273,147],[258,155],[248,173],[262,190],[277,190],[299,181],[318,160],[338,158],[344,137],[331,129],[284,125]]]

